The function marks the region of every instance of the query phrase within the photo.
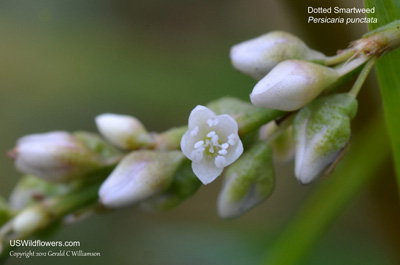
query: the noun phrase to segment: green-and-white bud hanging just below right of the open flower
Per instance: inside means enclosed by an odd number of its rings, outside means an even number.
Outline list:
[[[225,172],[218,197],[218,213],[234,218],[265,200],[274,188],[272,149],[267,142],[258,142]]]

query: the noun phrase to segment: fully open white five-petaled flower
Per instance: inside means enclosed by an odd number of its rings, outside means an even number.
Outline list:
[[[197,106],[190,113],[181,148],[192,160],[193,172],[203,184],[216,179],[243,152],[237,122],[227,114],[217,116],[204,106]]]

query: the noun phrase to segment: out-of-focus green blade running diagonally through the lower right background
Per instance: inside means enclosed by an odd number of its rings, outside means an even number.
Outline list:
[[[268,251],[263,264],[299,264],[350,202],[378,176],[377,170],[390,154],[382,128],[382,118],[376,117],[363,130],[364,135],[356,139],[348,159],[329,179],[321,180],[322,183]],[[377,138],[381,141],[376,141]]]

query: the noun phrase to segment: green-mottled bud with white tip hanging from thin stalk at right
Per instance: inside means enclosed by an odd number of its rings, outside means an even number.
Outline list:
[[[302,184],[315,180],[350,140],[350,120],[357,100],[337,94],[315,100],[294,121],[295,175]]]

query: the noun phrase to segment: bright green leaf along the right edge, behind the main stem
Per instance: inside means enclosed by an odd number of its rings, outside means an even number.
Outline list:
[[[400,19],[400,1],[364,0],[365,7],[375,7],[376,13],[370,17],[378,18],[378,23],[369,24],[373,30],[394,20]],[[376,65],[379,86],[385,111],[386,126],[392,142],[392,149],[400,190],[400,49],[392,51],[379,59]]]

